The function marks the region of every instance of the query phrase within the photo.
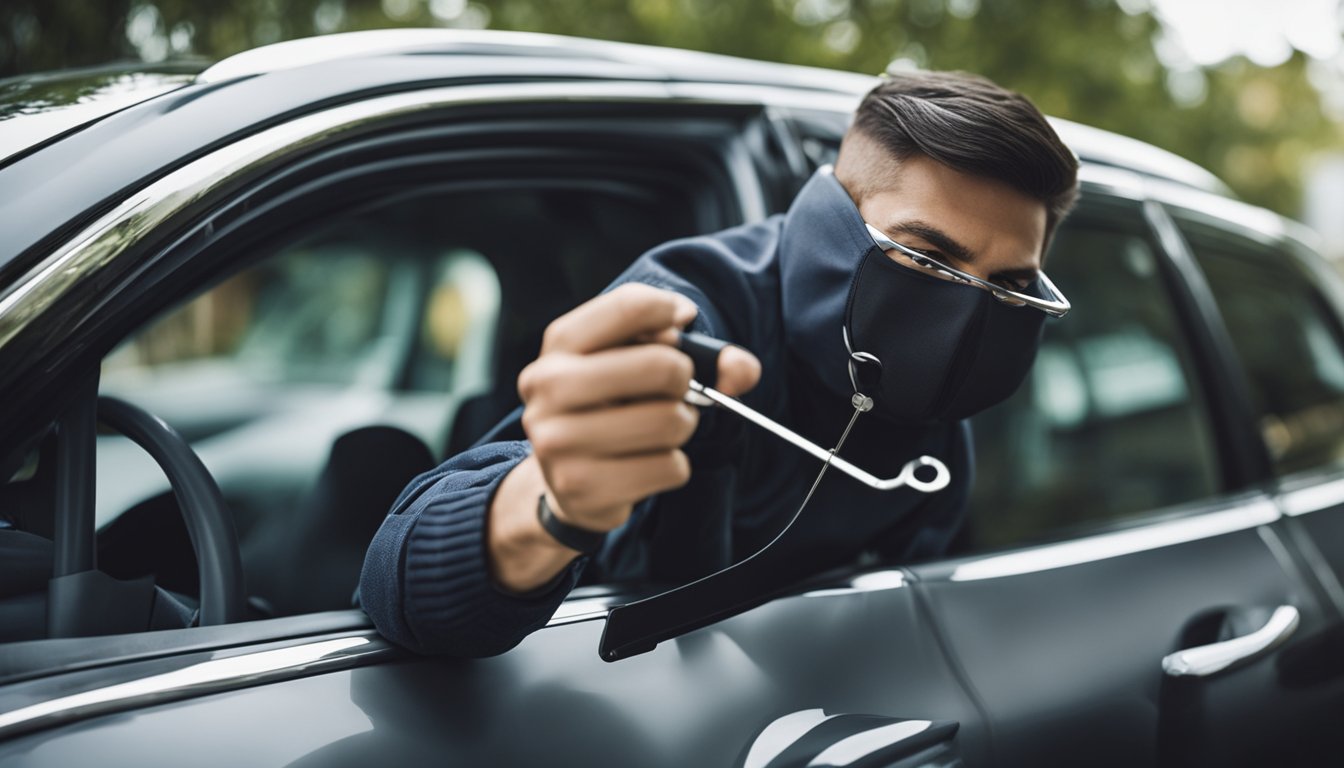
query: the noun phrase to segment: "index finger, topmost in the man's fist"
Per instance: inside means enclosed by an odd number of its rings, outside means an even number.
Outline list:
[[[585,354],[616,347],[645,334],[685,325],[695,315],[695,303],[680,293],[626,282],[579,304],[547,325],[542,354]]]

